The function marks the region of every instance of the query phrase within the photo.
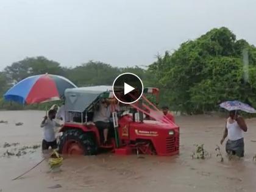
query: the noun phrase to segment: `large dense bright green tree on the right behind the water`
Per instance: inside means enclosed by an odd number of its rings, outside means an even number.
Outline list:
[[[249,71],[244,69],[244,51],[249,55]],[[202,113],[216,110],[230,99],[255,103],[256,49],[245,40],[236,40],[226,27],[213,29],[196,40],[180,45],[149,66],[161,90],[163,102],[173,110]],[[244,79],[249,73],[249,81]]]

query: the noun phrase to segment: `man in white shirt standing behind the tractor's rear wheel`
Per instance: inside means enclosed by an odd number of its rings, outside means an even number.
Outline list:
[[[57,149],[57,140],[55,138],[55,127],[61,127],[54,121],[56,116],[55,110],[49,110],[48,116],[45,116],[41,127],[43,128],[42,150],[48,150],[49,147]]]

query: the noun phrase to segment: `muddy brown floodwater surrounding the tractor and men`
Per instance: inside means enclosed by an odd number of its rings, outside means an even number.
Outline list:
[[[40,121],[44,112],[0,112],[0,156],[22,146],[41,143]],[[43,158],[40,149],[20,157],[0,157],[0,191],[255,191],[256,119],[247,119],[245,157],[228,160],[221,146],[224,162],[216,157],[224,118],[180,116],[180,155],[174,157],[100,154],[94,157],[65,158],[61,172],[49,172],[48,162],[41,163],[21,179],[16,176]],[[23,122],[23,126],[15,123]],[[20,143],[3,148],[5,142]],[[205,160],[192,160],[194,144],[204,144],[211,154]],[[57,186],[56,188],[54,186]]]

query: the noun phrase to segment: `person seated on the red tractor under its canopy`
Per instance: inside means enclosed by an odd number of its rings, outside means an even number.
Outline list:
[[[108,129],[110,128],[110,115],[110,107],[108,106],[107,101],[104,99],[101,101],[101,104],[99,104],[99,108],[96,108],[96,110],[94,110],[93,115],[94,124],[99,129],[100,133],[102,133],[103,131],[104,145],[107,144]]]

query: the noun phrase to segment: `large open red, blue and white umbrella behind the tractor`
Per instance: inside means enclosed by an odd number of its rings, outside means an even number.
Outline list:
[[[4,99],[20,104],[57,101],[63,98],[66,88],[74,87],[76,85],[65,77],[41,74],[18,82],[4,94]]]

